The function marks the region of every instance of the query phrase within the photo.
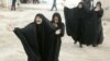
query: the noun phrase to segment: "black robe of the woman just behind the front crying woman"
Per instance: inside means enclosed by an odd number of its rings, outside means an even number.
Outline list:
[[[61,34],[59,35],[56,35],[56,34],[54,35],[55,42],[54,42],[53,53],[55,56],[53,57],[54,58],[53,61],[58,61],[59,50],[61,50],[61,45],[62,45],[62,37],[64,36],[64,33],[65,33],[64,23],[58,24],[58,27],[55,27],[55,30],[57,30],[57,29],[61,29]]]

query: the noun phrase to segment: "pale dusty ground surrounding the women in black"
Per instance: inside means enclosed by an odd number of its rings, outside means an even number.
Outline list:
[[[19,9],[18,11],[9,11],[7,9],[0,10],[0,61],[26,61],[26,54],[19,38],[12,33],[8,32],[8,24],[14,23],[16,27],[23,27],[33,22],[36,13],[44,13],[51,20],[52,14],[48,10],[37,9]],[[61,49],[61,61],[110,61],[110,10],[106,11],[103,22],[105,40],[99,47],[79,48],[78,44],[74,45],[74,40],[65,35]],[[59,10],[63,16],[64,13]]]

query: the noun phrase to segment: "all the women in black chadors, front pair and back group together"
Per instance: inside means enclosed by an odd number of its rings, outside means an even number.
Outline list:
[[[98,7],[98,8],[97,8]],[[101,3],[87,12],[80,2],[77,8],[64,8],[67,35],[72,36],[75,44],[92,45],[102,44],[103,34]],[[36,14],[34,21],[23,28],[13,27],[14,34],[20,38],[28,54],[28,61],[58,61],[62,37],[65,25],[59,13],[54,13],[50,22],[43,14]]]

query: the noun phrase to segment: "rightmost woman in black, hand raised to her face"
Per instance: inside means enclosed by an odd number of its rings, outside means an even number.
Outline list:
[[[103,32],[102,32],[102,24],[101,17],[103,15],[103,9],[101,8],[101,2],[97,2],[94,12],[97,14],[97,41],[96,46],[102,44],[103,41]]]

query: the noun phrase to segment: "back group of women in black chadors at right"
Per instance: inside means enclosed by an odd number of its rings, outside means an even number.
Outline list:
[[[101,2],[97,2],[91,10],[86,10],[82,2],[74,9],[64,8],[67,35],[72,36],[75,44],[97,47],[103,41],[101,17],[103,9]]]

